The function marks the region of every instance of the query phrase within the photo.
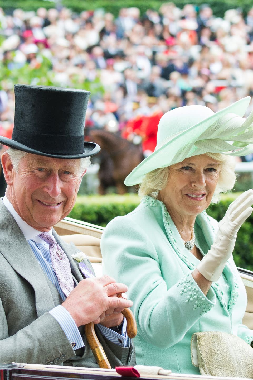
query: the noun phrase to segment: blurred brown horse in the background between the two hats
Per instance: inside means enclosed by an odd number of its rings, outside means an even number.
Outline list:
[[[90,129],[89,140],[101,146],[98,177],[99,194],[104,195],[109,186],[116,186],[118,194],[124,194],[128,187],[124,179],[143,159],[141,144],[135,145],[123,139],[118,133],[101,129]]]

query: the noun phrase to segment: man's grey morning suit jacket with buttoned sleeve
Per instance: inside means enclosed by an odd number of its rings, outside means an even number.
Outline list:
[[[53,232],[68,256],[72,275],[83,279],[67,244]],[[0,363],[63,364],[97,367],[91,349],[74,351],[58,322],[48,312],[62,303],[60,294],[43,272],[13,216],[0,199]],[[83,326],[79,328],[83,335]],[[134,365],[135,350],[109,342],[96,328],[112,367]],[[59,360],[56,360],[59,359]]]

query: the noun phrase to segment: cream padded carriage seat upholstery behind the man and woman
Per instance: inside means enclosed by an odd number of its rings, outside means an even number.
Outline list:
[[[61,236],[61,238],[67,243],[73,242],[80,251],[88,256],[96,276],[102,275],[102,255],[99,237],[86,234],[70,234]],[[243,323],[248,326],[248,328],[253,329],[253,277],[244,274],[242,274],[241,277],[248,296],[247,310],[244,315]]]

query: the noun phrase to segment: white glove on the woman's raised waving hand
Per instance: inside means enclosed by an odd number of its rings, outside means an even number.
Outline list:
[[[210,281],[217,281],[232,255],[236,234],[242,223],[253,211],[253,190],[247,190],[239,195],[228,207],[222,220],[218,223],[218,232],[214,244],[198,264],[198,271]]]

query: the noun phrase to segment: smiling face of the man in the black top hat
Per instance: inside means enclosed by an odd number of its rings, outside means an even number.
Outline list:
[[[39,231],[50,228],[72,210],[80,185],[80,160],[27,154],[16,172],[6,161],[7,197],[16,212]]]

